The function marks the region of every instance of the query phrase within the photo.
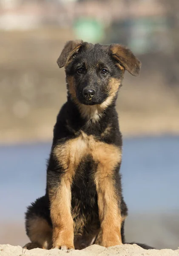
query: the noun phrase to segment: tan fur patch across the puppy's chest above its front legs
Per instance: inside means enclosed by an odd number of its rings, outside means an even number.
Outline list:
[[[121,157],[121,151],[115,145],[96,140],[93,135],[87,135],[83,131],[78,137],[57,145],[54,154],[63,169],[68,170],[72,176],[88,156],[96,166],[99,163],[119,162]]]

